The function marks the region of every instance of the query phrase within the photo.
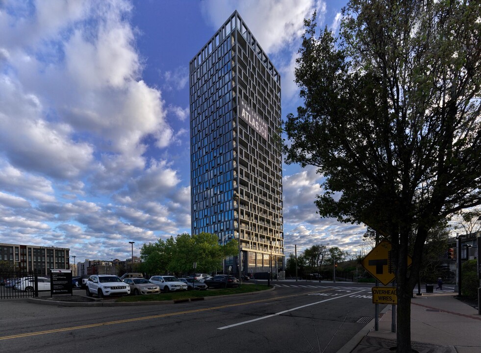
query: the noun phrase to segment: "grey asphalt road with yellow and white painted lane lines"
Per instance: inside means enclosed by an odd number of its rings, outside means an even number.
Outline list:
[[[374,316],[370,285],[273,282],[255,295],[121,307],[0,302],[0,352],[335,353]]]

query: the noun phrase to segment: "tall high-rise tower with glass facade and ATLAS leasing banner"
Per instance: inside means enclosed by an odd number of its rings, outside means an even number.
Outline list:
[[[237,11],[189,68],[192,234],[239,240],[225,271],[282,276],[279,73]]]

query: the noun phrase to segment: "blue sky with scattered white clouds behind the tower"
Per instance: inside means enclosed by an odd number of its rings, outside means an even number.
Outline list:
[[[0,243],[130,257],[190,233],[188,63],[237,9],[282,79],[303,19],[336,30],[344,1],[0,0]],[[316,214],[322,176],[283,169],[285,252],[359,251],[362,226]]]

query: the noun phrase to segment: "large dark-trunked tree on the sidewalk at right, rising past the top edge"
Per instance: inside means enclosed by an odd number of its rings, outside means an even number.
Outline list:
[[[325,176],[321,216],[391,241],[400,352],[430,229],[481,204],[480,18],[470,0],[352,0],[337,35],[305,21],[286,162]]]

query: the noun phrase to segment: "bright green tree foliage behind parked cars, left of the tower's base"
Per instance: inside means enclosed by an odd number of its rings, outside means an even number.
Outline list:
[[[156,243],[144,244],[140,250],[143,272],[148,274],[186,274],[194,271],[210,273],[222,267],[222,259],[236,255],[237,240],[225,245],[218,243],[215,234],[201,233],[191,236],[188,233],[171,236]]]

